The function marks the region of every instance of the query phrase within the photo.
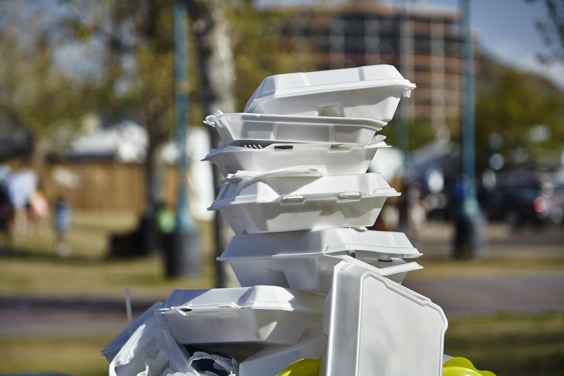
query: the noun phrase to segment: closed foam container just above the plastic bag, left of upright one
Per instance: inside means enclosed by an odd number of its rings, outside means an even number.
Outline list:
[[[323,297],[278,286],[174,290],[156,315],[180,344],[294,344],[320,330]]]

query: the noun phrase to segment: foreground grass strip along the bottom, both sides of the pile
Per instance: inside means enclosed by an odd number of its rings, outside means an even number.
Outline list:
[[[112,337],[0,339],[0,373],[49,370],[108,374],[100,350]],[[564,370],[564,315],[496,315],[451,320],[445,352],[497,376],[556,376]]]

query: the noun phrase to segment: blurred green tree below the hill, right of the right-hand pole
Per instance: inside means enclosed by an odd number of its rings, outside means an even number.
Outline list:
[[[485,55],[478,59],[478,170],[488,166],[493,153],[509,166],[557,163],[564,139],[564,93],[535,74],[504,67]],[[539,126],[547,136],[535,136]]]

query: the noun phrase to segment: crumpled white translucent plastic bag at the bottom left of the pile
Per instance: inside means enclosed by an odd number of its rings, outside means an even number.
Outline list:
[[[190,359],[188,359],[190,358]],[[188,351],[173,337],[170,327],[158,317],[149,317],[131,335],[109,365],[109,376],[213,376],[214,373],[199,373],[192,362],[211,359],[218,369],[237,376],[239,362],[205,352]],[[166,369],[165,369],[166,368]]]

